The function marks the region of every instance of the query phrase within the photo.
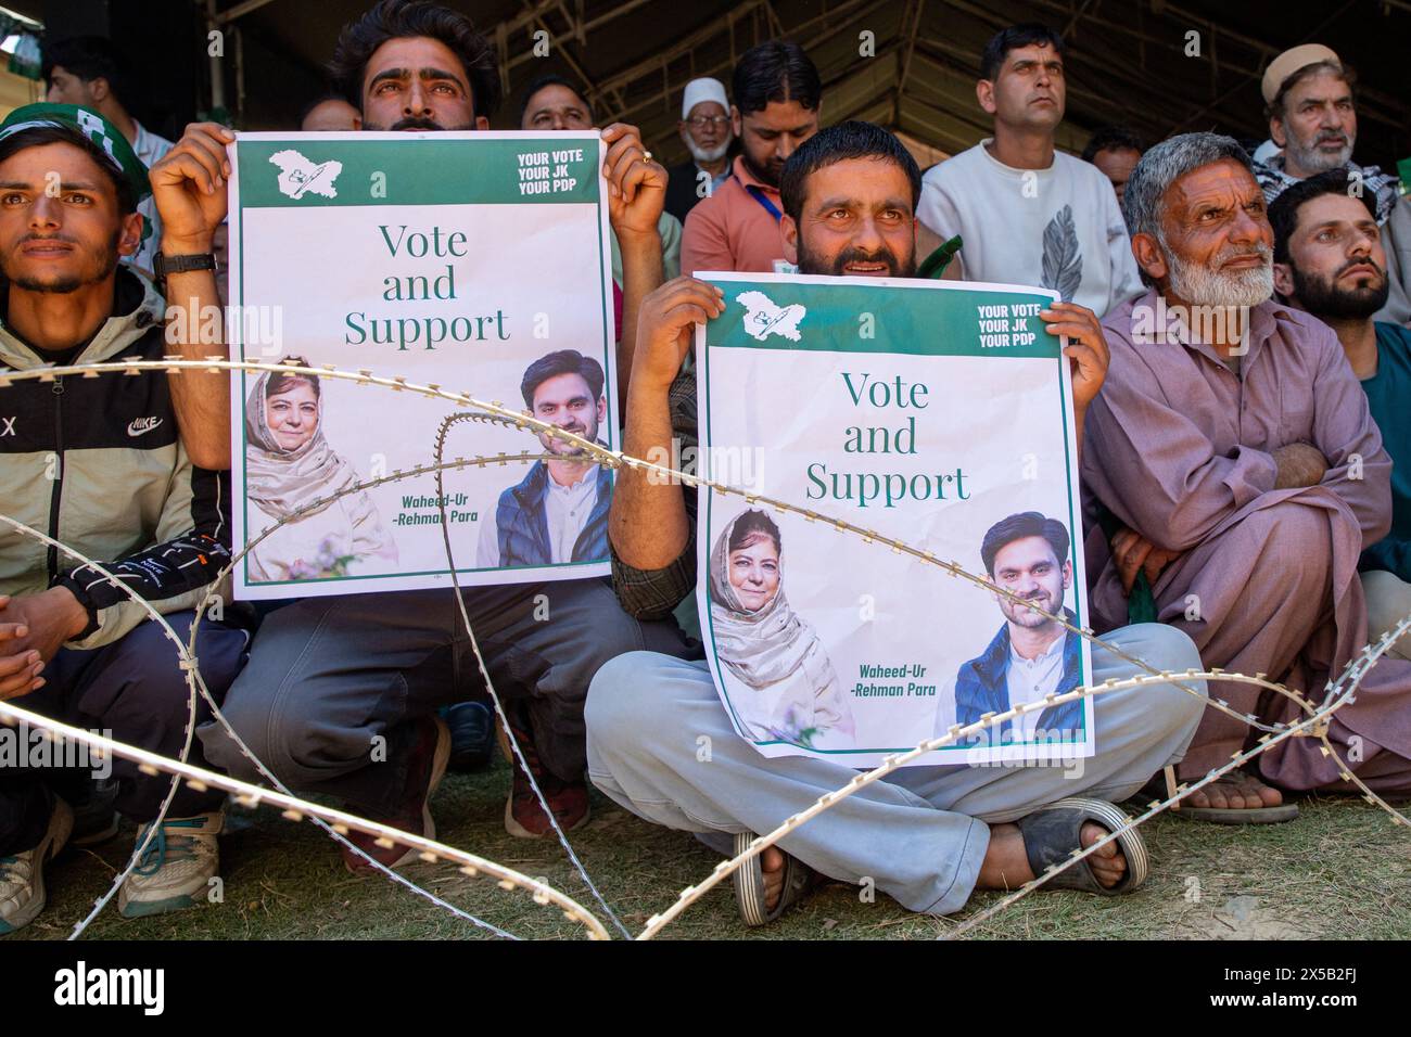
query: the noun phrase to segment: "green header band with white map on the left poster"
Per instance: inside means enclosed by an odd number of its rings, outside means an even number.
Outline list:
[[[598,200],[597,138],[270,137],[241,135],[236,142],[243,207]]]

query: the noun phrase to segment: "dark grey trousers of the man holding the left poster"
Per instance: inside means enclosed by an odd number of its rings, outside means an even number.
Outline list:
[[[543,765],[581,780],[583,703],[598,667],[624,652],[684,655],[673,619],[626,615],[604,580],[467,590],[495,690],[528,714]],[[305,598],[265,617],[222,707],[281,782],[385,815],[404,786],[406,721],[483,686],[454,591]],[[206,758],[261,782],[226,731],[198,729]]]

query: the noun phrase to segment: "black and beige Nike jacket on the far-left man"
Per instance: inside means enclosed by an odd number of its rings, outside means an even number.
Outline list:
[[[113,316],[72,363],[161,360],[165,303],[155,286],[120,267],[114,296]],[[4,316],[0,381],[52,364]],[[158,612],[206,595],[230,560],[229,511],[229,473],[192,466],[165,372],[0,385],[0,514],[99,563]],[[0,594],[56,584],[89,612],[69,648],[107,645],[147,617],[106,576],[0,522]]]

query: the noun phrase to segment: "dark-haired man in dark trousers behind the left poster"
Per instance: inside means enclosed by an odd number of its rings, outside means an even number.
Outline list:
[[[365,130],[484,130],[499,99],[492,44],[464,14],[432,3],[382,0],[343,30],[332,65],[334,82],[358,102]],[[192,171],[192,181],[213,183],[223,202],[223,148],[196,138],[206,133],[202,127],[188,133],[202,150],[192,158],[209,162]],[[628,238],[652,243],[634,247],[634,254],[660,250],[655,234],[666,171],[649,161],[635,127],[610,126],[602,138],[610,145],[608,212],[624,253]],[[209,226],[219,223],[223,207],[210,213]],[[672,621],[628,617],[601,580],[477,587],[464,601],[515,741],[559,825],[587,823],[588,681],[625,650],[650,643],[682,652],[684,638]],[[299,793],[334,796],[404,831],[435,831],[428,803],[452,751],[436,711],[480,687],[452,591],[296,601],[265,618],[250,666],[250,679],[231,689],[224,714],[282,782]],[[220,725],[207,724],[199,734],[210,759],[260,780]],[[518,837],[552,831],[529,773],[518,765],[505,828]],[[388,866],[415,859],[401,844],[350,838]],[[370,871],[361,856],[343,852],[350,871]]]

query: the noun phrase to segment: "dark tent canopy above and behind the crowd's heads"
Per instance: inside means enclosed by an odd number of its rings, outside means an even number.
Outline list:
[[[666,161],[682,161],[676,120],[686,82],[729,83],[741,52],[769,38],[801,44],[825,83],[824,120],[866,119],[951,154],[989,133],[975,100],[993,32],[1044,21],[1068,44],[1060,147],[1078,151],[1116,123],[1147,141],[1187,130],[1267,137],[1260,76],[1278,52],[1324,42],[1359,76],[1357,158],[1411,155],[1401,66],[1411,0],[444,0],[494,40],[512,128],[523,87],[545,72],[584,85],[600,123],[636,123]],[[16,1],[21,13],[40,0]],[[288,128],[322,92],[340,27],[370,0],[214,0],[238,61],[220,68],[244,128]],[[199,6],[198,6],[199,7]],[[62,25],[51,23],[51,32]],[[205,37],[205,25],[193,24]],[[536,34],[546,34],[538,35]],[[549,55],[535,54],[547,41]],[[540,47],[542,49],[542,47]],[[238,66],[238,68],[237,68]],[[200,106],[205,106],[205,100]]]

